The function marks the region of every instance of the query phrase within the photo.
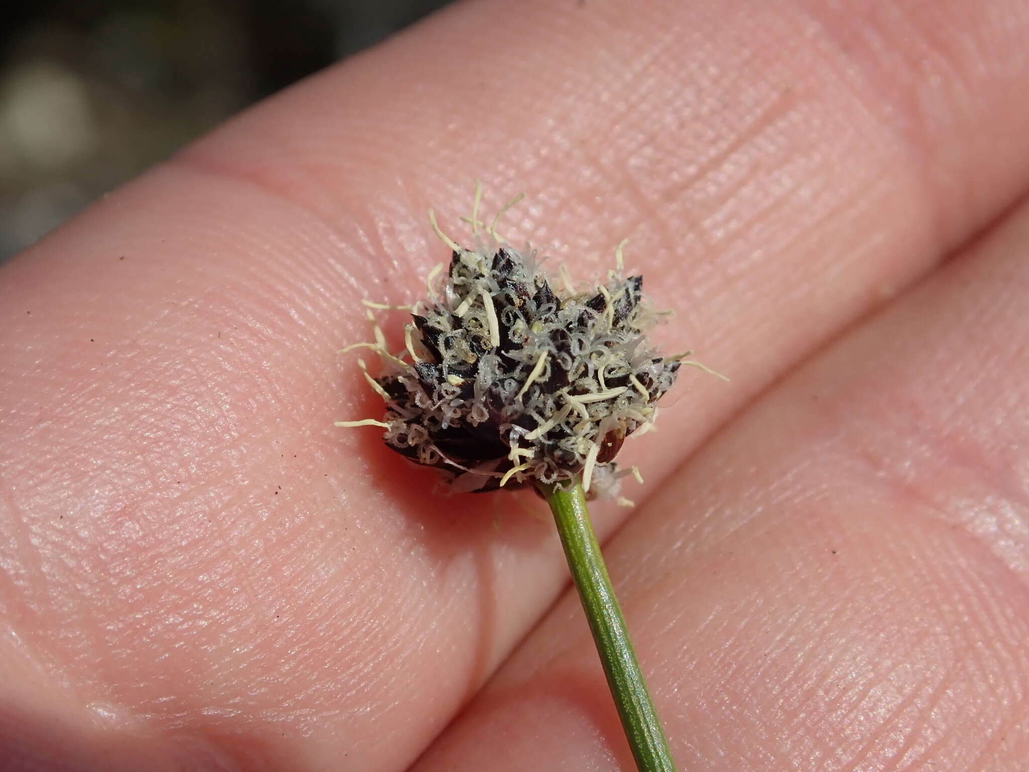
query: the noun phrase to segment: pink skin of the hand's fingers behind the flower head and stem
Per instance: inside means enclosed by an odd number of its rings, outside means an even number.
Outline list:
[[[0,767],[631,768],[541,503],[331,425],[381,410],[359,299],[422,292],[477,177],[577,279],[629,237],[657,339],[732,377],[595,507],[682,769],[1024,769],[1027,36],[465,2],[5,266]]]

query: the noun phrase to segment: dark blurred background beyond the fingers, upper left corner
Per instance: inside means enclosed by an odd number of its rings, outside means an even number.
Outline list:
[[[23,0],[0,23],[0,262],[273,92],[449,0]]]

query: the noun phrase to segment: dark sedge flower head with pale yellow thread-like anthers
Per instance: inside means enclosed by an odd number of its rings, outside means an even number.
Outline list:
[[[642,277],[624,275],[620,245],[603,283],[576,288],[562,269],[556,286],[536,250],[497,236],[496,219],[481,229],[477,190],[475,202],[472,247],[443,235],[430,212],[452,254],[412,307],[404,349],[388,351],[378,325],[375,343],[357,344],[381,355],[382,372],[365,377],[384,418],[338,425],[382,426],[387,446],[448,472],[459,491],[581,476],[587,491],[614,495],[620,477],[639,478],[618,470],[615,454],[652,427],[685,355],[647,345],[658,314]]]

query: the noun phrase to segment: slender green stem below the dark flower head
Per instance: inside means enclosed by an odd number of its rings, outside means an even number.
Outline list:
[[[640,772],[675,772],[675,763],[643,671],[636,659],[626,619],[614,597],[604,556],[593,532],[578,480],[567,490],[539,486],[558,524],[561,545],[590,622],[607,685]]]

